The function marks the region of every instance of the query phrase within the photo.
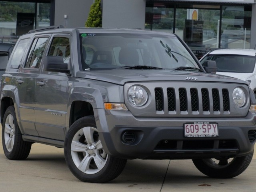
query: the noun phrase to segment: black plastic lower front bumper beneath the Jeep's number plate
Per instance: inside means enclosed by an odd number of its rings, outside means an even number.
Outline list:
[[[249,132],[256,127],[220,126],[218,137],[207,138],[187,138],[173,126],[115,126],[99,134],[106,152],[119,158],[193,159],[244,156],[254,150]]]

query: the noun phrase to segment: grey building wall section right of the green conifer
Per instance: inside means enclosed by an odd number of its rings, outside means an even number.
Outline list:
[[[144,29],[146,0],[102,0],[102,3],[102,27]]]

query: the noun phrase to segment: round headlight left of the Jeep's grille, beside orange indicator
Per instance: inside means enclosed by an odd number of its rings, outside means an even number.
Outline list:
[[[148,100],[148,93],[144,88],[138,85],[131,86],[128,90],[128,100],[134,106],[142,106]]]

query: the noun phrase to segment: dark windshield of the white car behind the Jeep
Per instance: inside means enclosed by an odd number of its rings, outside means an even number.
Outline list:
[[[252,73],[255,66],[255,56],[245,55],[208,55],[202,61],[216,61],[217,72]]]

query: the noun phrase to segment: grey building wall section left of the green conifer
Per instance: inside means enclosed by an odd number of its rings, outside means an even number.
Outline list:
[[[93,2],[94,0],[55,0],[54,25],[66,28],[84,27]]]

